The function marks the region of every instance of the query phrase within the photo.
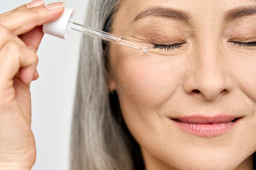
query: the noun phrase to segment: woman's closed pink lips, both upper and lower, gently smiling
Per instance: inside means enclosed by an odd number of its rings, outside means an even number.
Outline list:
[[[182,129],[203,137],[216,136],[228,131],[240,120],[240,118],[241,117],[226,114],[216,115],[214,117],[201,115],[171,117],[171,119]]]

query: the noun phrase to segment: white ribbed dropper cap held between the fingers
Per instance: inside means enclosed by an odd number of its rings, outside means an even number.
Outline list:
[[[65,7],[64,12],[59,19],[43,25],[43,32],[61,39],[67,39],[74,18],[75,11]]]

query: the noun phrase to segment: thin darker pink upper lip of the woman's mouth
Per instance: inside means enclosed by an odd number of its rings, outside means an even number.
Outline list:
[[[204,115],[171,117],[171,119],[179,119],[184,123],[191,123],[191,124],[224,123],[224,122],[230,122],[236,118],[241,118],[241,117],[231,116],[227,114],[216,115],[212,117],[204,116]]]

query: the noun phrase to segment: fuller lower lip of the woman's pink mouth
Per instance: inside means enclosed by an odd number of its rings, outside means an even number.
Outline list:
[[[172,119],[173,120],[173,119]],[[184,123],[181,121],[173,120],[176,124],[178,124],[182,129],[189,131],[190,133],[203,136],[210,137],[220,135],[229,129],[231,129],[240,119],[237,119],[235,122],[225,122],[225,123],[212,123],[212,124],[192,124],[192,123]]]

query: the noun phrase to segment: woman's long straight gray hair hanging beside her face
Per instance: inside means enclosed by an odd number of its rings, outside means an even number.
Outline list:
[[[112,16],[119,5],[120,0],[90,0],[85,25],[110,32]],[[83,94],[80,90],[86,83],[88,87],[106,87],[105,45],[101,39],[88,35],[82,38],[71,134],[72,170],[134,169],[130,146],[136,142],[129,140],[132,135],[124,122],[118,122],[121,114],[113,113],[110,95],[95,90]],[[118,100],[112,105],[114,110],[120,110]]]

